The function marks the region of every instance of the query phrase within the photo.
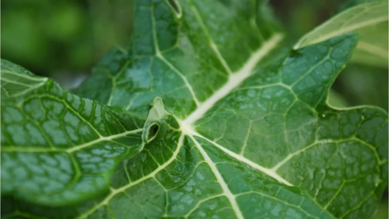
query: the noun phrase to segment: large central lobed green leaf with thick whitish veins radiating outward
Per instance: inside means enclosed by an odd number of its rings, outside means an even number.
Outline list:
[[[111,175],[112,169],[93,175],[110,178],[109,190],[87,201],[80,193],[72,205],[42,206],[14,189],[5,193],[0,215],[370,217],[389,175],[388,114],[375,107],[339,110],[326,104],[357,36],[340,35],[291,53],[265,2],[179,0],[175,7],[169,2],[135,1],[129,51],[110,51],[74,90],[80,99],[93,99],[96,106],[128,118],[115,116],[121,125],[134,127],[115,134],[144,127],[121,135],[122,146],[137,144],[130,147],[133,153],[115,160],[121,162],[110,166],[116,168]],[[118,127],[109,122],[105,126]],[[7,127],[0,133],[16,135]],[[23,146],[9,145],[8,139],[0,145],[5,155]],[[85,156],[99,147],[90,146]]]

